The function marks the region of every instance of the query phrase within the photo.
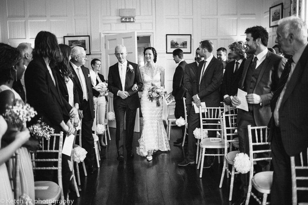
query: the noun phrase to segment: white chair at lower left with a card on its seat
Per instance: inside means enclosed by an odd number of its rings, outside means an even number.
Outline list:
[[[56,138],[59,138],[59,148],[55,149]],[[50,141],[52,140],[52,144]],[[58,140],[57,140],[58,141]],[[36,155],[32,155],[32,162],[57,162],[57,167],[33,167],[33,170],[57,170],[58,171],[58,184],[51,181],[36,181],[34,187],[48,187],[47,189],[35,189],[35,200],[38,200],[36,204],[42,204],[40,202],[56,201],[57,199],[64,201],[63,186],[62,186],[62,142],[63,132],[60,134],[51,134],[51,138],[47,140],[47,148],[42,144],[42,148],[36,151]],[[57,157],[51,157],[50,159],[38,159],[37,156],[40,153],[58,153]],[[35,157],[36,156],[36,157]],[[44,204],[44,203],[43,203]]]

